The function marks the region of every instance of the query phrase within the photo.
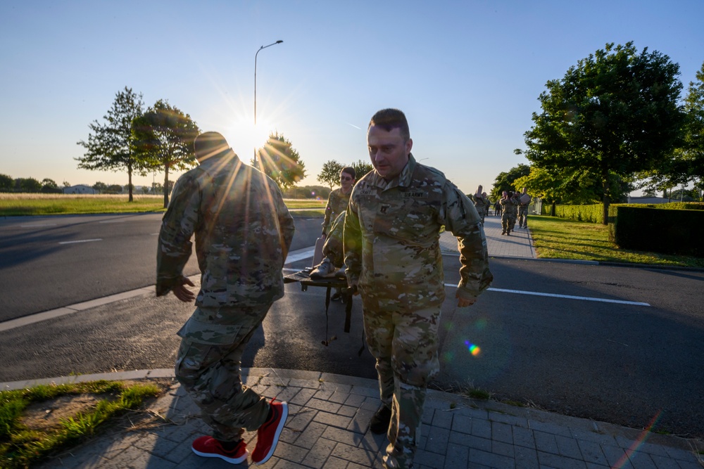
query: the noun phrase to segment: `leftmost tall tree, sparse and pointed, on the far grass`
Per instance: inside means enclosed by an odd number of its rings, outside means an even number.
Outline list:
[[[120,171],[127,169],[127,186],[130,187],[132,202],[132,174],[146,175],[147,163],[134,148],[132,121],[142,115],[144,103],[142,94],[135,94],[131,88],[115,94],[113,106],[103,116],[105,122],[94,120],[88,127],[88,141],[77,144],[86,149],[82,157],[75,158],[81,169]]]

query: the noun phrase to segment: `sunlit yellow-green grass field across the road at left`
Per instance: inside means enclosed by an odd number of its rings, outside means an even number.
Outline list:
[[[68,215],[89,213],[144,213],[163,212],[163,195],[133,195],[129,202],[126,194],[74,195],[74,194],[10,194],[0,193],[0,216]],[[322,214],[327,200],[286,199],[289,210],[312,210]],[[306,214],[307,210],[306,210]]]

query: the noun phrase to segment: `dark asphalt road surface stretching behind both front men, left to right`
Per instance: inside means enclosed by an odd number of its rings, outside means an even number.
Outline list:
[[[103,223],[113,228],[94,231],[96,228],[87,226],[92,223],[73,221],[62,229],[65,233],[58,229],[44,233],[42,236],[56,243],[103,236],[114,245],[98,249],[93,244],[98,241],[74,243],[69,249],[80,261],[70,264],[71,269],[80,267],[83,271],[37,272],[34,278],[56,275],[58,278],[51,278],[56,285],[80,274],[80,281],[110,288],[117,284],[115,291],[123,291],[129,288],[119,288],[122,278],[144,270],[144,279],[134,288],[153,284],[156,239],[151,233],[158,231],[158,219],[139,229],[126,229],[122,223]],[[313,244],[320,219],[296,219],[297,228],[299,225],[294,249]],[[84,231],[81,226],[86,226]],[[121,245],[117,234],[108,237],[122,230],[120,226],[125,226],[122,236],[139,231],[142,235],[138,238],[151,238]],[[27,233],[5,224],[0,224],[0,229],[2,313],[11,317],[6,301],[16,292],[8,291],[6,282],[15,281],[15,271],[23,271],[25,262],[41,262],[44,269],[56,269],[69,260],[65,245],[42,244],[37,239],[39,233],[30,236],[23,257],[20,235]],[[37,226],[33,229],[41,231]],[[79,255],[79,245],[89,251]],[[142,245],[134,257],[137,260],[128,257],[132,254],[113,252]],[[11,255],[6,255],[8,252]],[[147,265],[129,265],[135,262]],[[303,259],[287,267],[309,263],[310,259]],[[113,275],[107,271],[113,269],[120,274],[106,281],[106,276]],[[441,323],[441,373],[434,386],[445,390],[476,387],[497,399],[568,415],[636,428],[655,423],[656,430],[704,437],[704,273],[491,259],[495,276],[491,290],[474,306],[458,309],[452,286],[458,280],[457,269],[455,257],[444,256],[448,299]],[[32,278],[31,272],[22,275]],[[70,282],[66,285],[62,288],[83,294]],[[23,290],[23,294],[34,302],[39,300],[32,295],[51,296],[54,289],[51,282],[34,281],[34,288]],[[358,299],[353,301],[351,333],[344,333],[344,305],[339,302],[330,306],[326,330],[324,289],[303,292],[294,283],[287,285],[286,293],[254,336],[243,366],[375,378],[369,353],[357,354],[363,345]],[[69,298],[66,295],[65,304],[75,302]],[[22,304],[24,300],[19,297],[13,301]],[[54,305],[58,306],[61,304]],[[168,368],[178,346],[175,332],[191,311],[190,304],[172,296],[139,297],[6,330],[0,333],[0,381]],[[322,340],[333,337],[329,346],[322,345]]]

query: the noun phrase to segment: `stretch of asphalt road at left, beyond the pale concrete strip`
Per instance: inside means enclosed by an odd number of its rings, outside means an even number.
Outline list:
[[[162,214],[0,219],[0,321],[154,284]],[[296,218],[296,250],[320,219]],[[198,272],[195,255],[184,274]]]

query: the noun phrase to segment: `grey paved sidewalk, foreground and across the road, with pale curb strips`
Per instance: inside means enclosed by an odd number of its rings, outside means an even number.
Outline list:
[[[498,217],[486,217],[486,240],[492,257],[534,258],[528,230],[501,236]],[[441,236],[445,253],[456,252],[456,240]],[[64,314],[127,298],[152,296],[140,288],[101,300],[7,321],[1,328],[24,327]],[[264,468],[381,468],[388,442],[368,426],[378,409],[375,380],[311,371],[245,369],[246,383],[267,397],[289,402],[289,418],[279,446]],[[171,369],[47,378],[1,383],[0,389],[88,380],[172,378]],[[137,423],[139,420],[139,423]],[[146,421],[145,421],[146,420]],[[154,402],[148,413],[130,414],[127,425],[113,428],[81,446],[45,461],[42,468],[225,468],[217,458],[201,458],[191,442],[207,434],[199,411],[180,385]],[[131,423],[130,423],[131,422]],[[134,424],[134,425],[132,425]],[[704,443],[657,435],[609,423],[561,416],[495,401],[429,390],[417,468],[702,468]],[[250,451],[256,432],[246,434]],[[698,452],[699,451],[699,452]],[[243,463],[247,467],[251,463]]]

